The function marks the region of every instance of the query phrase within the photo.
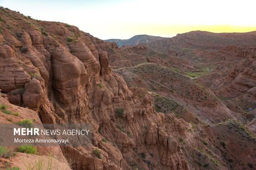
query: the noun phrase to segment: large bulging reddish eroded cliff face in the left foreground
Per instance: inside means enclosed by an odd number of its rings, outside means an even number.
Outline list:
[[[153,165],[139,156],[149,148],[156,155],[175,154],[167,163],[165,156],[152,159],[156,169],[189,169],[177,142],[170,146],[159,142],[159,126],[168,135],[171,131],[163,123],[152,123],[152,119],[161,122],[162,118],[154,111],[151,98],[145,96],[142,104],[133,99],[123,77],[111,71],[105,49],[117,48],[116,44],[104,43],[64,23],[36,21],[32,27],[17,22],[25,27],[24,31],[13,27],[17,37],[3,31],[8,38],[0,46],[0,88],[13,104],[36,111],[42,123],[92,124],[92,146],[61,148],[67,159],[74,159],[73,169],[128,170],[134,162],[149,169]],[[39,25],[41,30],[35,29]],[[123,113],[116,116],[120,107]],[[143,126],[149,128],[141,131]],[[107,143],[102,142],[103,137]],[[168,148],[166,154],[161,146]],[[95,157],[94,149],[100,150],[100,157]]]

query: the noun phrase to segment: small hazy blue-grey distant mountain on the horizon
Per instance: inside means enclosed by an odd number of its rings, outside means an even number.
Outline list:
[[[164,37],[157,37],[157,36],[152,36],[152,35],[135,35],[134,37],[131,37],[128,40],[121,40],[121,39],[109,39],[109,40],[104,40],[104,42],[116,42],[116,44],[121,47],[123,45],[137,45],[140,43],[147,44],[149,42],[153,42],[155,40],[163,40],[165,39]]]

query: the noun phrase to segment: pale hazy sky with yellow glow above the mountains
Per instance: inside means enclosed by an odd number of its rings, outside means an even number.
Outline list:
[[[256,0],[0,0],[0,6],[69,23],[103,40],[256,30]]]

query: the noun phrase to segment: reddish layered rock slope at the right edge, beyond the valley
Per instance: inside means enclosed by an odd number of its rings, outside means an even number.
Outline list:
[[[221,66],[224,68],[219,66],[213,70],[211,75],[200,77],[200,83],[208,86],[217,96],[232,98],[229,102],[239,105],[242,109],[255,108],[256,47],[231,46],[215,52],[215,54],[226,58],[232,56],[234,61],[231,66],[223,63]],[[226,69],[229,67],[231,68],[227,72]],[[232,108],[231,105],[230,108],[236,111],[236,107]]]

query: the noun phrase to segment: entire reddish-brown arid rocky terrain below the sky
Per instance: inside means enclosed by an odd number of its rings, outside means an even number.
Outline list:
[[[256,31],[111,41],[0,8],[0,123],[92,124],[0,169],[256,169]]]

